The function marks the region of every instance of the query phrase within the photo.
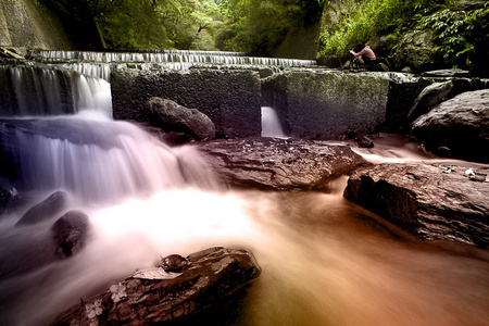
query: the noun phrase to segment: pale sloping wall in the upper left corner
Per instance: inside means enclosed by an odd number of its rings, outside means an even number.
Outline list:
[[[1,0],[0,46],[72,50],[58,18],[35,0]]]

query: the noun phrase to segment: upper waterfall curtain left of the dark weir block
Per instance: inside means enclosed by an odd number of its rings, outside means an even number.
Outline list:
[[[108,82],[49,65],[0,66],[0,116],[60,115],[100,110],[112,116]]]

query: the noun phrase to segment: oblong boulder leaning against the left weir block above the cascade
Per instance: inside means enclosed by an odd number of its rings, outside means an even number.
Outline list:
[[[215,126],[212,121],[197,109],[187,109],[172,100],[151,98],[146,102],[151,125],[165,131],[183,133],[190,138],[214,139]]]

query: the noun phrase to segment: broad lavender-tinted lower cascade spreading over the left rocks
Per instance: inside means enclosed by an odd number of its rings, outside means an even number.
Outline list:
[[[1,147],[21,191],[65,189],[90,203],[187,185],[213,187],[211,177],[193,176],[205,171],[196,151],[171,149],[139,127],[97,112],[0,124]]]

